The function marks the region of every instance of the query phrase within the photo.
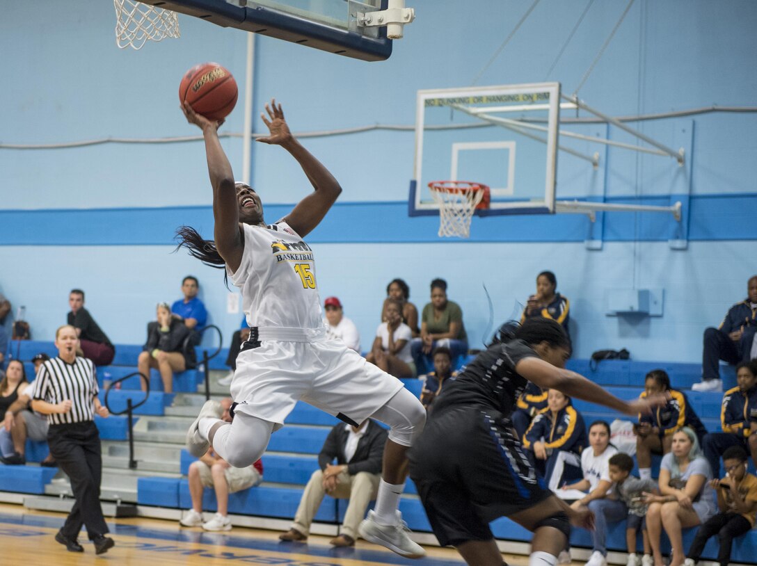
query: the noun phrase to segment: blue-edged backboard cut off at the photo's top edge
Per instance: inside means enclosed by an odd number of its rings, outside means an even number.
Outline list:
[[[157,8],[364,61],[391,55],[386,27],[358,25],[388,0],[144,0]]]

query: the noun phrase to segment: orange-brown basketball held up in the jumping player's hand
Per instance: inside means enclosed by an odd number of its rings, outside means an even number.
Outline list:
[[[232,73],[217,63],[201,63],[184,73],[179,85],[179,101],[208,120],[229,116],[238,96]]]

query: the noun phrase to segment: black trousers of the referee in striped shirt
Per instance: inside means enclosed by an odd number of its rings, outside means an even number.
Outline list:
[[[61,533],[76,539],[84,524],[90,540],[104,535],[108,530],[100,506],[102,456],[94,421],[50,425],[48,444],[58,466],[71,480],[76,498]]]

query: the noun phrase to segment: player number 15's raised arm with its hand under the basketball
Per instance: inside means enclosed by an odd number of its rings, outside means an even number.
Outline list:
[[[232,271],[241,263],[244,240],[239,226],[239,204],[237,202],[234,172],[218,138],[218,128],[223,120],[208,120],[197,114],[189,104],[182,104],[182,110],[189,123],[202,130],[207,156],[207,173],[213,187],[213,238],[218,253]]]

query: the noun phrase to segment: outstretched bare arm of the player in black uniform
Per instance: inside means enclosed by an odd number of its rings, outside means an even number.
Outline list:
[[[593,381],[584,378],[583,375],[568,369],[557,368],[535,357],[519,361],[516,364],[516,372],[542,389],[556,389],[570,397],[604,405],[625,415],[636,416],[638,413],[646,415],[653,407],[662,406],[667,402],[667,397],[662,394],[631,401],[618,399]]]

